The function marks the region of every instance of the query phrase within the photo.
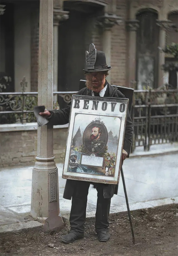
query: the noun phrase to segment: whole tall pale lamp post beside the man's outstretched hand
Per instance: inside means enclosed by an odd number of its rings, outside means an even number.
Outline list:
[[[53,0],[40,0],[38,105],[53,108]],[[32,173],[31,215],[45,229],[64,225],[59,209],[58,169],[53,155],[53,127],[38,127],[37,156]]]

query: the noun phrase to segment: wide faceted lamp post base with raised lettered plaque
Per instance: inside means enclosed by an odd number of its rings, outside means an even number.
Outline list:
[[[36,160],[32,172],[30,215],[44,223],[46,231],[60,231],[65,224],[59,211],[58,168],[54,157],[36,157]]]

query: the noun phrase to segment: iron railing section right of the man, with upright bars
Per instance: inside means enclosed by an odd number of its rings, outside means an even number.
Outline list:
[[[178,142],[178,90],[135,90],[132,152],[142,146]]]

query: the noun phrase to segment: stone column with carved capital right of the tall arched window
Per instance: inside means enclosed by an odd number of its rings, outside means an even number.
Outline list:
[[[163,86],[165,71],[162,69],[162,65],[165,64],[165,53],[162,49],[166,46],[166,31],[176,30],[176,26],[171,20],[157,20],[157,25],[160,27],[159,30],[159,73],[158,73],[158,87]],[[168,81],[169,83],[169,81]]]

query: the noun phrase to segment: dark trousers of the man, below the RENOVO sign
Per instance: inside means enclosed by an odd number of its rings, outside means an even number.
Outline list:
[[[104,184],[95,183],[95,187],[98,192],[97,211],[95,215],[95,231],[97,233],[98,231],[106,231],[109,226],[108,217],[111,198],[103,197],[103,186]],[[71,232],[78,236],[83,236],[84,234],[86,204],[89,187],[90,182],[80,181],[80,185],[75,188],[72,196],[72,207],[70,212]]]

